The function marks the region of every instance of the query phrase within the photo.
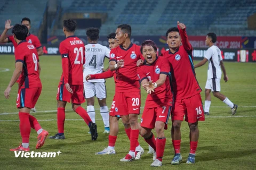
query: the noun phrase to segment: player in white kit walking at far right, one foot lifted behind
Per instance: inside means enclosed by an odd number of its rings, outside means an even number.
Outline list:
[[[204,113],[209,115],[211,106],[211,91],[214,97],[217,97],[223,103],[227,104],[231,108],[232,115],[236,114],[237,105],[233,104],[225,95],[220,93],[220,79],[221,70],[223,71],[225,82],[228,81],[226,69],[222,61],[221,52],[219,47],[215,46],[214,43],[217,41],[217,36],[215,33],[207,33],[205,44],[209,46],[204,56],[204,59],[195,65],[200,67],[209,61],[208,71],[207,71],[207,81],[205,86],[205,103],[204,103]]]

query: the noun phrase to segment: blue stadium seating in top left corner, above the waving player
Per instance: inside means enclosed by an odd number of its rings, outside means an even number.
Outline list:
[[[20,23],[22,18],[28,17],[31,20],[30,32],[37,34],[39,24],[43,19],[46,3],[47,0],[8,0],[4,1],[3,3],[1,2],[2,7],[0,7],[0,29],[4,29],[5,21],[8,19],[11,19],[12,25],[14,25],[16,23]]]

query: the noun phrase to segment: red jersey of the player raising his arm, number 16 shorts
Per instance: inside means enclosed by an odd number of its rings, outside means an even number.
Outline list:
[[[170,50],[161,54],[166,57],[171,64],[172,74],[172,90],[175,99],[185,99],[202,91],[200,88],[194,69],[194,62],[192,56],[192,46],[188,41],[186,30],[180,31],[182,46],[180,46],[175,53]]]

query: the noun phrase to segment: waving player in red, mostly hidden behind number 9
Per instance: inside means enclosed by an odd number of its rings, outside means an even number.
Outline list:
[[[28,31],[30,30],[31,25],[30,25],[30,19],[29,18],[23,18],[21,20],[21,24],[26,25],[26,27],[28,28]],[[7,31],[9,29],[11,29],[12,27],[13,26],[11,26],[11,20],[5,21],[5,29],[2,33],[2,35],[0,36],[0,42],[1,43],[12,43],[14,48],[16,48],[18,46],[18,44],[14,40],[13,36],[6,37]],[[28,43],[33,44],[34,47],[36,47],[38,56],[41,56],[41,55],[44,54],[42,45],[41,45],[39,39],[35,35],[28,32],[26,40],[27,40]],[[19,80],[17,82],[19,82]],[[36,108],[35,107],[31,108],[31,111],[36,112]]]

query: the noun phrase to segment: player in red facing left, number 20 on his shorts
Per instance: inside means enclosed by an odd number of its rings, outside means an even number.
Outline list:
[[[117,27],[116,40],[118,47],[111,49],[109,70],[116,71],[116,93],[111,108],[115,109],[115,116],[121,117],[125,125],[125,132],[130,139],[130,152],[121,162],[130,162],[135,156],[143,154],[140,147],[138,115],[140,114],[140,83],[137,77],[137,61],[142,57],[140,46],[131,43],[131,26],[122,24]],[[114,115],[113,115],[114,116]],[[114,118],[110,118],[115,120]],[[118,126],[118,121],[110,123],[109,146],[95,154],[103,155],[112,152],[115,154],[117,133],[111,135],[111,128]],[[129,128],[131,126],[131,128]],[[118,128],[117,128],[118,129]],[[137,152],[135,154],[135,151]],[[104,154],[105,155],[105,154]],[[140,158],[140,157],[139,157]],[[136,158],[136,159],[139,159]]]

